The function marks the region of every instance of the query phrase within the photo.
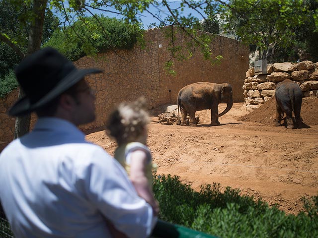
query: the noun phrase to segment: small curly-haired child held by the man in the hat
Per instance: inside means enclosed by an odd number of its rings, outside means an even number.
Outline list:
[[[149,116],[145,106],[144,98],[119,104],[106,123],[106,131],[118,144],[115,159],[127,171],[138,195],[153,207],[157,216],[159,205],[152,191],[152,155],[146,146]]]

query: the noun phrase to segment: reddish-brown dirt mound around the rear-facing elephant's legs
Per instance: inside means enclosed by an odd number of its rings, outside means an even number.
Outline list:
[[[307,125],[318,125],[318,98],[303,98],[301,117]],[[246,122],[261,122],[264,125],[274,124],[276,118],[275,97],[272,97],[262,106],[255,109],[250,114],[239,118]]]

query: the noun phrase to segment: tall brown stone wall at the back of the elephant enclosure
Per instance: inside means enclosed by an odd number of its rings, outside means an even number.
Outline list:
[[[117,103],[135,100],[141,95],[147,98],[149,109],[162,104],[176,104],[178,91],[194,82],[230,83],[234,102],[243,102],[242,78],[248,69],[247,47],[239,41],[216,35],[212,43],[213,56],[223,56],[220,64],[212,65],[196,49],[190,60],[174,60],[176,75],[173,76],[165,70],[165,62],[171,59],[168,51],[171,45],[164,34],[158,28],[150,29],[145,33],[145,47],[137,45],[132,50],[101,53],[97,57],[83,57],[75,62],[79,68],[96,67],[104,70],[101,74],[86,77],[96,90],[97,117],[93,123],[82,126],[83,131],[102,128],[107,115]],[[184,37],[175,39],[175,43],[185,42]],[[10,142],[13,138],[14,119],[8,118],[5,113],[16,98],[15,90],[1,99],[1,143]],[[32,121],[35,121],[34,115]]]

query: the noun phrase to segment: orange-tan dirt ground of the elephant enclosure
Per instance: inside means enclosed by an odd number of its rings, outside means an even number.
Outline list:
[[[178,175],[182,181],[220,183],[241,194],[278,204],[287,214],[303,210],[303,196],[318,195],[318,98],[304,98],[302,118],[308,128],[275,127],[275,101],[248,113],[235,103],[229,113],[210,126],[210,111],[197,112],[196,127],[164,125],[152,110],[148,146],[158,165],[157,174]],[[225,109],[219,105],[219,112]],[[104,131],[86,138],[113,155],[116,143]]]

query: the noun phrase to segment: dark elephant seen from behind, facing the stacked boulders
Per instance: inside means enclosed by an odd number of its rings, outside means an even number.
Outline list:
[[[290,79],[276,85],[275,91],[276,101],[276,120],[275,126],[280,126],[280,121],[286,114],[287,128],[300,128],[302,126],[302,119],[300,111],[302,108],[303,91],[300,86]],[[293,120],[293,112],[295,115],[295,122]]]

